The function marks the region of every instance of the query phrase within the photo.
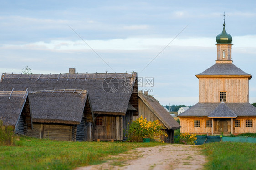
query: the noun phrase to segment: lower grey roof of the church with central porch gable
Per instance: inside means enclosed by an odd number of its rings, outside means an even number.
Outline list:
[[[250,103],[225,103],[225,105],[237,117],[256,116],[256,107],[254,107]],[[228,112],[229,109],[222,106],[223,106],[222,103],[196,103],[194,106],[190,107],[185,112],[179,114],[178,117],[183,117],[183,116],[203,117],[203,116],[209,116],[210,113],[213,113],[216,116],[218,115],[219,117],[220,115],[221,117],[226,117],[226,116],[230,117],[230,115],[233,115],[232,113]]]

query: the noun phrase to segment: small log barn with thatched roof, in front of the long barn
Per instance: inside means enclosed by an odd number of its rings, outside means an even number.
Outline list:
[[[33,130],[25,135],[59,141],[91,141],[93,113],[86,90],[29,92]]]

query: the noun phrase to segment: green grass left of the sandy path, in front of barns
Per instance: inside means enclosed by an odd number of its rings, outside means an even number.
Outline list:
[[[138,147],[163,143],[126,142],[68,142],[36,139],[22,136],[15,146],[0,146],[2,170],[70,170],[78,166],[94,165]]]

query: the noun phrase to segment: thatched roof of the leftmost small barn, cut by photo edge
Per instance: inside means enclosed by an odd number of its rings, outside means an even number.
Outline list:
[[[0,92],[0,119],[4,125],[17,126],[27,98],[28,91]]]

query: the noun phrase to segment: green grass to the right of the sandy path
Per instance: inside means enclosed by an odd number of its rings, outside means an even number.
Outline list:
[[[207,170],[255,170],[255,143],[214,142],[201,147],[209,158]]]

